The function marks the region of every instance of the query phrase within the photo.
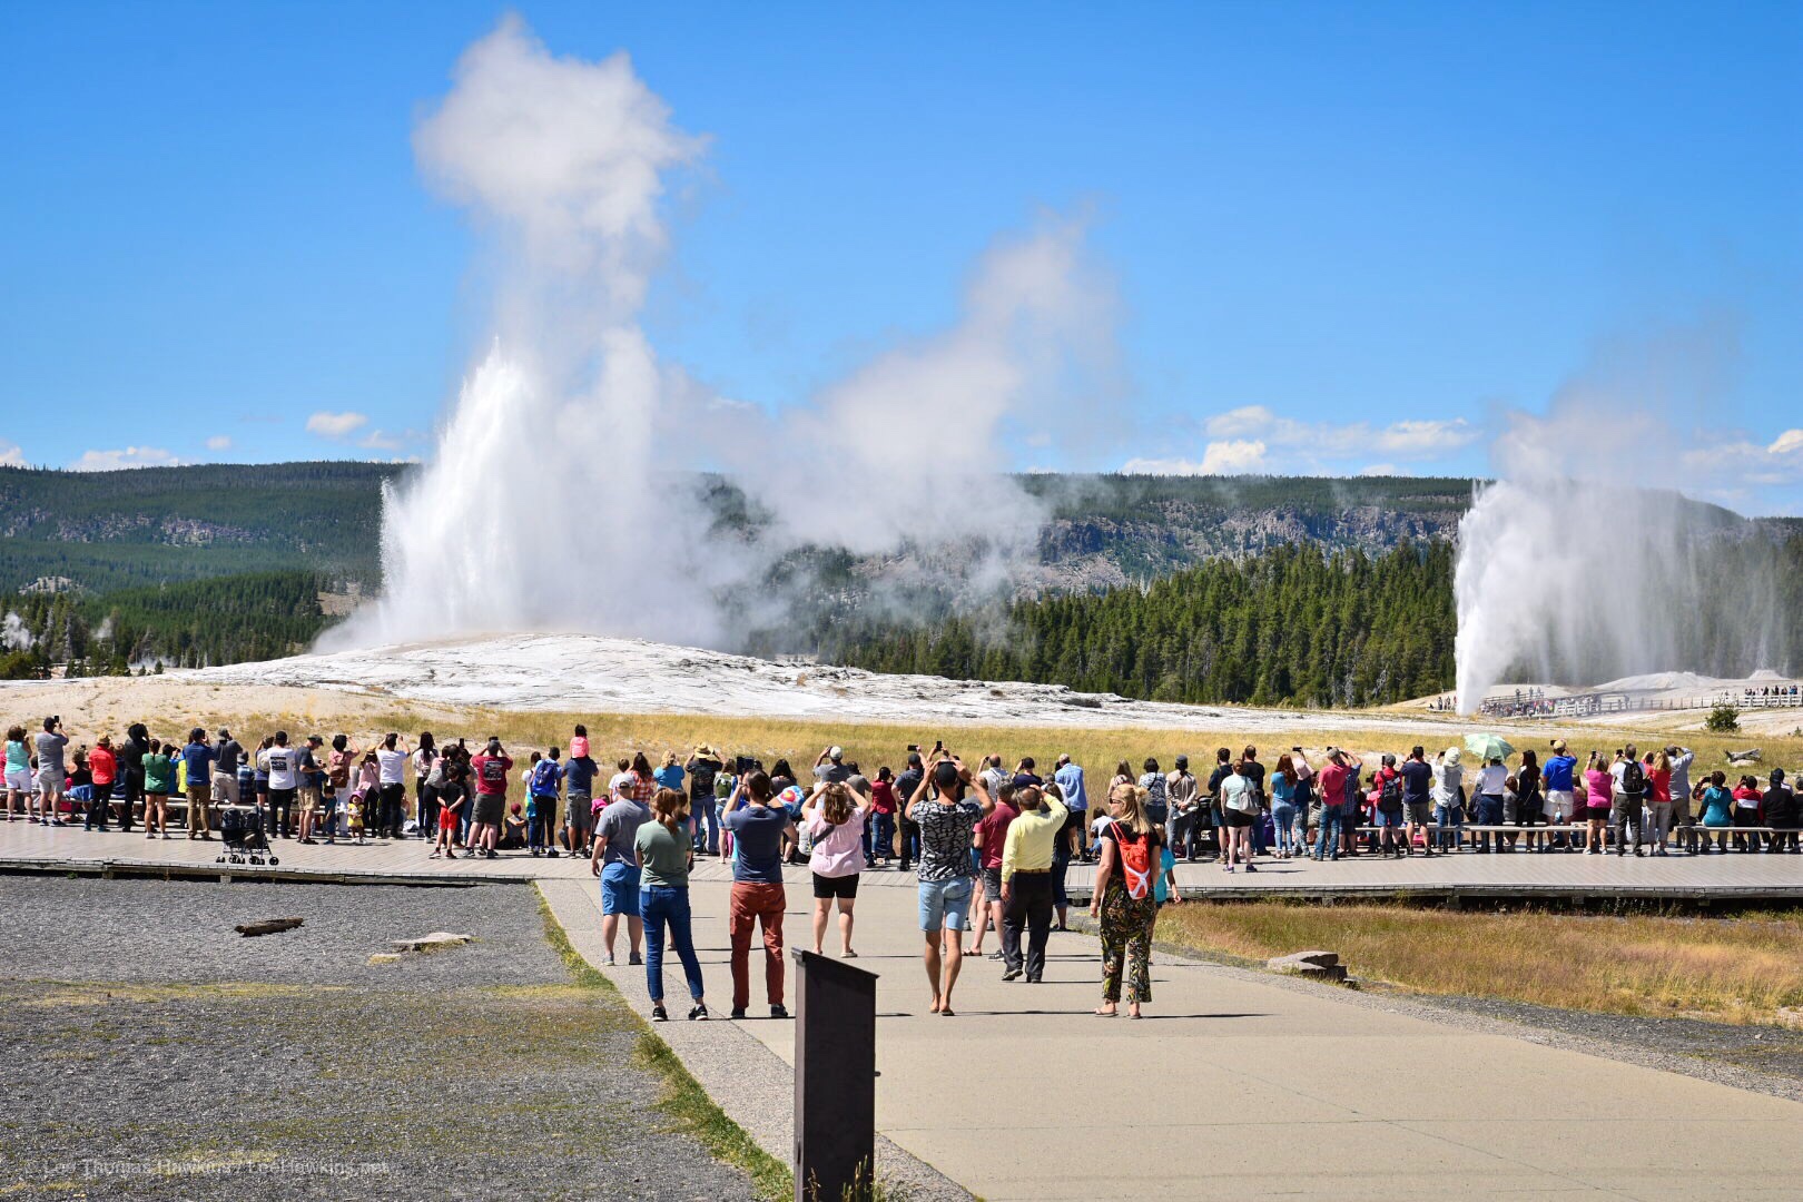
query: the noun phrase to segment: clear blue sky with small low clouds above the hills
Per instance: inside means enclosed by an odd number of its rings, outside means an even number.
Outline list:
[[[409,132],[501,13],[11,5],[0,460],[429,452],[483,285]],[[1484,472],[1605,375],[1659,395],[1670,483],[1803,512],[1803,5],[519,13],[709,135],[647,330],[736,398],[950,324],[999,234],[1089,211],[1129,387],[1105,449],[1019,467]]]

